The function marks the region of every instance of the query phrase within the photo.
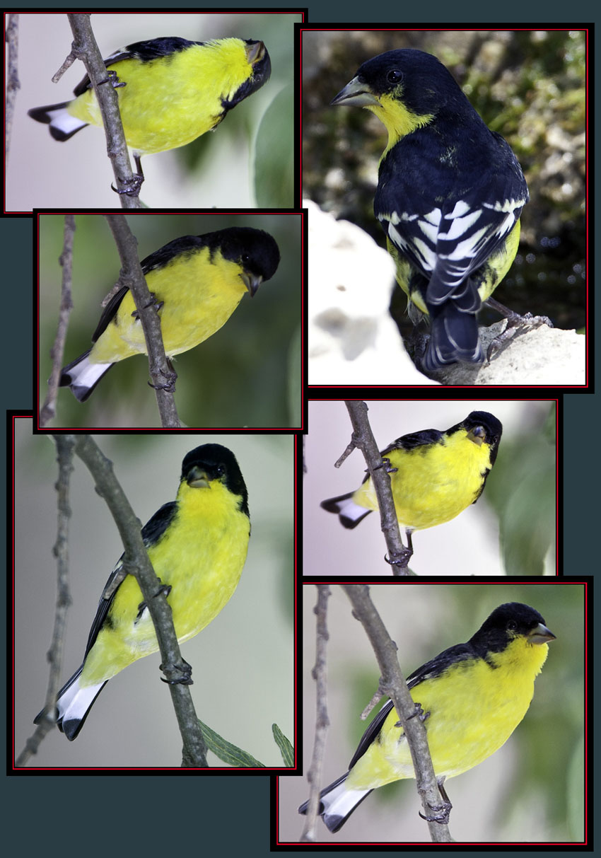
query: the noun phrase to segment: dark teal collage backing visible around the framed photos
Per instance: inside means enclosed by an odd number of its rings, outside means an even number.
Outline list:
[[[144,3],[130,0],[128,5],[128,10],[165,8],[153,0],[144,0]],[[12,8],[18,11],[19,6],[14,3]],[[244,0],[238,0],[236,6],[256,9],[255,3]],[[281,8],[268,0],[261,6]],[[75,9],[75,3],[63,3],[63,7]],[[39,3],[40,11],[53,8],[54,4]],[[192,3],[181,3],[180,8],[197,9]],[[462,21],[469,26],[475,26],[473,22],[478,21],[484,26],[482,18],[486,9],[482,3],[458,6],[430,0],[418,9],[418,14],[427,16],[428,25],[412,21],[411,6],[398,3],[398,0],[394,3],[379,0],[369,6],[357,0],[344,0],[344,3],[342,0],[320,0],[312,8],[310,6],[310,13],[313,10],[312,23],[359,21],[365,25],[369,21],[372,25],[397,21],[396,26],[406,27],[414,22],[416,26],[436,27],[437,21],[447,21],[451,15],[454,26]],[[201,11],[206,12],[206,9]],[[573,21],[584,23],[592,18],[592,4],[573,2],[567,8],[552,0],[527,6],[508,0],[502,7],[491,7],[495,15],[491,24],[502,26],[499,21],[502,18],[512,27],[520,21],[528,26],[553,26],[545,25],[545,21],[563,21],[567,12]],[[537,13],[539,17],[535,23],[532,19]],[[3,405],[4,408],[30,407],[33,378],[31,222],[26,218],[4,219],[0,224],[0,236],[3,251]],[[563,440],[567,574],[591,573],[598,568],[596,540],[593,542],[593,539],[598,527],[600,410],[596,396],[565,396],[565,438],[560,438],[560,443]],[[190,777],[195,776],[87,776],[81,772],[58,777],[27,774],[24,770],[23,775],[13,778],[10,784],[4,783],[3,813],[4,819],[10,820],[6,830],[21,832],[20,840],[27,843],[27,851],[36,854],[60,849],[74,855],[94,856],[102,850],[117,856],[136,855],[140,851],[152,856],[177,849],[205,855],[236,855],[239,852],[249,858],[268,855],[270,798],[267,777],[209,776],[210,780],[206,777],[191,780]],[[12,836],[8,838],[9,847],[14,847]],[[311,855],[325,854],[323,850],[311,850]],[[364,852],[364,855],[372,854],[376,853]],[[405,850],[403,854],[412,855]],[[509,853],[496,853],[504,854]],[[512,855],[515,855],[514,850]]]

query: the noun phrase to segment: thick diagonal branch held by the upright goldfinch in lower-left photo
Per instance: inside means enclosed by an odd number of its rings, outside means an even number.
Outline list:
[[[185,662],[177,644],[171,607],[160,589],[159,579],[154,573],[141,538],[140,522],[135,517],[123,489],[113,474],[112,463],[102,454],[90,435],[76,436],[75,453],[87,465],[93,476],[96,491],[105,499],[115,519],[125,549],[123,569],[126,574],[135,575],[140,585],[159,642],[161,669],[169,680]],[[169,691],[183,739],[182,766],[183,768],[207,768],[207,747],[202,738],[189,686],[170,684]]]

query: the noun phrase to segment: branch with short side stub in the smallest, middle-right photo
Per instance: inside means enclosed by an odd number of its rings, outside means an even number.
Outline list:
[[[367,416],[367,405],[365,402],[352,400],[345,400],[345,405],[351,418],[352,439],[351,443],[346,447],[345,452],[340,456],[338,462],[336,462],[335,467],[340,468],[346,456],[349,456],[356,447],[364,454],[365,463],[370,471],[371,480],[376,490],[376,498],[378,498],[380,526],[388,547],[388,560],[392,565],[393,575],[412,575],[412,572],[407,570],[407,564],[412,556],[412,552],[403,545],[403,541],[400,538],[399,522],[397,521],[393,492],[390,487],[390,477],[382,462],[376,438],[374,438],[374,434],[371,431],[370,420]]]

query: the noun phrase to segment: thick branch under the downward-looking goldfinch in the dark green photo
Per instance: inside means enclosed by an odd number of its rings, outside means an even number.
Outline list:
[[[179,429],[177,408],[173,398],[173,387],[177,374],[167,364],[165,346],[160,329],[160,317],[154,307],[154,298],[148,291],[147,282],[142,274],[138,259],[137,242],[123,215],[105,215],[121,258],[123,286],[127,286],[133,296],[136,310],[140,315],[142,330],[148,353],[148,372],[153,380],[154,393],[159,407],[161,426]]]

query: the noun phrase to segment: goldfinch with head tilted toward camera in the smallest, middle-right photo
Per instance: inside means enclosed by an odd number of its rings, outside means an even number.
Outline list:
[[[446,432],[424,429],[397,438],[382,450],[390,468],[390,486],[398,521],[411,547],[414,530],[449,522],[475,504],[495,464],[502,425],[487,411],[472,411]],[[378,509],[376,492],[366,474],[356,492],[322,501],[346,528],[356,528]]]

